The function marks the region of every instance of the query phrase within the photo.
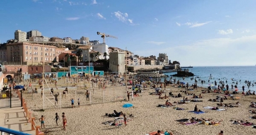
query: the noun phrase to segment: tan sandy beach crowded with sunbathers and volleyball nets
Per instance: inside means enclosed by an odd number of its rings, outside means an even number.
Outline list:
[[[25,82],[25,84],[27,84]],[[190,84],[192,85],[192,84]],[[39,85],[36,83],[32,84],[33,88],[39,89]],[[54,98],[50,95],[49,88],[54,88],[54,85],[45,86],[45,111],[40,111],[42,109],[42,98],[41,98],[41,90],[38,90],[38,93],[23,93],[23,97],[25,97],[28,107],[34,110],[34,116],[36,117],[37,125],[40,124],[39,118],[41,115],[45,116],[45,125],[46,128],[42,128],[41,131],[44,131],[45,134],[138,134],[145,135],[150,132],[154,132],[157,130],[160,131],[170,131],[175,135],[185,135],[185,134],[218,134],[221,130],[224,131],[224,134],[255,134],[255,128],[252,126],[242,126],[240,124],[233,124],[230,120],[248,120],[250,123],[256,123],[256,119],[251,119],[251,116],[254,114],[249,113],[250,109],[255,110],[255,108],[250,108],[250,102],[256,101],[255,95],[244,96],[242,94],[238,94],[235,96],[240,97],[239,100],[232,100],[228,97],[228,100],[224,100],[223,103],[235,103],[239,101],[240,105],[238,108],[227,108],[227,107],[219,107],[226,109],[225,111],[216,111],[211,109],[205,109],[205,106],[213,106],[216,107],[217,103],[220,102],[212,102],[208,101],[210,98],[216,98],[216,96],[224,96],[222,93],[202,93],[202,90],[206,90],[205,88],[197,88],[197,90],[189,91],[190,93],[195,93],[195,95],[201,95],[203,98],[202,102],[189,102],[187,104],[176,104],[174,101],[180,101],[183,98],[173,98],[169,96],[170,103],[174,103],[175,107],[184,108],[184,110],[176,110],[173,107],[170,108],[161,108],[157,107],[158,105],[164,105],[166,99],[159,99],[157,95],[149,95],[149,93],[154,92],[154,88],[145,88],[142,90],[142,93],[139,93],[140,96],[134,97],[132,101],[124,101],[124,97],[127,99],[126,94],[126,86],[121,86],[116,84],[116,86],[111,86],[111,84],[107,85],[105,91],[98,88],[98,86],[94,86],[94,93],[91,88],[91,105],[90,101],[86,101],[86,89],[84,89],[84,83],[80,83],[79,90],[76,91],[76,86],[68,86],[69,93],[66,94],[66,98],[58,98],[59,103],[61,102],[61,109],[55,108]],[[59,92],[62,96],[62,91],[66,88],[66,83],[64,80],[59,80],[57,83],[58,90],[54,88],[54,94]],[[88,86],[88,84],[87,84]],[[129,88],[131,86],[128,86]],[[169,95],[169,92],[176,96],[180,93],[183,96],[187,97],[189,100],[192,100],[192,95],[185,95],[184,92],[180,92],[181,90],[185,90],[185,88],[177,88],[175,86],[167,86],[165,90],[166,94]],[[131,89],[128,89],[130,92]],[[76,96],[77,93],[77,96]],[[104,98],[103,98],[104,95]],[[164,93],[163,93],[164,96]],[[59,96],[58,96],[59,97]],[[75,107],[71,106],[71,98],[76,98]],[[77,98],[81,100],[81,106],[77,105]],[[131,98],[131,96],[130,96]],[[61,101],[60,101],[61,100]],[[59,107],[58,103],[58,107]],[[134,106],[131,108],[122,108],[122,105],[125,103],[132,103]],[[202,111],[206,113],[203,114],[195,114],[190,113],[189,111],[193,111],[195,105]],[[117,110],[126,113],[129,119],[127,122],[127,126],[124,124],[121,126],[111,126],[109,124],[102,124],[106,121],[114,121],[114,118],[110,118],[106,116],[106,113],[114,113],[113,111]],[[66,131],[62,129],[62,119],[58,122],[59,126],[56,125],[54,121],[55,113],[59,114],[61,118],[61,113],[64,112],[67,117],[67,126]],[[133,117],[129,117],[132,114]],[[220,121],[219,125],[204,125],[204,124],[180,124],[177,122],[179,119],[191,119],[195,118],[205,118],[205,119],[213,119],[214,121]]]

